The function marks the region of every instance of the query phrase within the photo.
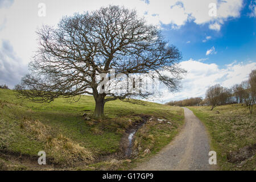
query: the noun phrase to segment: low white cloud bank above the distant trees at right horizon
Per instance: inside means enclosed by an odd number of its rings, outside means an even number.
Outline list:
[[[182,61],[180,65],[181,68],[188,71],[181,82],[183,88],[177,93],[166,92],[161,98],[166,102],[183,100],[189,97],[205,97],[208,87],[215,84],[228,88],[234,84],[240,84],[247,79],[251,70],[256,69],[256,60],[251,61],[251,63],[249,61],[247,64],[236,63],[235,61],[223,68],[220,68],[217,64],[201,63],[193,59]]]

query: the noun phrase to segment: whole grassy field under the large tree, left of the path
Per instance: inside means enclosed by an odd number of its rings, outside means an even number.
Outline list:
[[[184,120],[180,107],[117,100],[106,103],[105,119],[85,121],[82,114],[91,115],[94,105],[91,96],[38,104],[0,89],[0,169],[129,169],[168,144]],[[141,152],[131,162],[121,159],[123,136],[145,116],[168,119],[172,126],[157,119],[147,123],[135,136]],[[150,155],[143,154],[146,148]],[[39,151],[46,151],[46,167],[37,164]],[[115,158],[118,163],[111,162]]]

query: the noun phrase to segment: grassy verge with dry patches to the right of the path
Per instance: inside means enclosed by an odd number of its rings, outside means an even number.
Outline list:
[[[230,163],[227,153],[255,144],[256,114],[249,114],[241,104],[188,107],[205,124],[211,138],[211,148],[217,152],[218,167],[223,170],[255,170],[255,155],[242,166]]]

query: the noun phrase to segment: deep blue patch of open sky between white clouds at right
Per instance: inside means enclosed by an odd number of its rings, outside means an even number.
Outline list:
[[[220,66],[235,60],[255,60],[256,18],[249,16],[250,1],[244,2],[240,17],[230,18],[222,25],[220,31],[210,30],[208,24],[188,22],[175,30],[170,24],[164,25],[164,36],[179,47],[183,53],[183,60],[206,59],[204,63],[216,63]],[[203,42],[207,36],[210,36],[210,39]],[[207,56],[207,50],[213,46],[216,53]]]

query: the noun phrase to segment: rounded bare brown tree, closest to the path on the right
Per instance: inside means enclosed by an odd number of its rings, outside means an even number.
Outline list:
[[[212,106],[210,110],[213,110],[214,107],[226,104],[228,98],[230,97],[230,90],[224,88],[220,84],[210,86],[207,89],[205,98],[209,102],[209,105]]]

